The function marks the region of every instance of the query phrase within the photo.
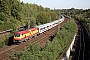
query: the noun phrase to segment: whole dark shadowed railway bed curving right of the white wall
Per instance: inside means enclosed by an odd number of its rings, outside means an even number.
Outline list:
[[[89,60],[89,55],[90,55],[89,32],[82,22],[77,20],[76,23],[79,28],[79,37],[78,37],[76,53],[75,53],[75,56],[72,58],[72,60]]]

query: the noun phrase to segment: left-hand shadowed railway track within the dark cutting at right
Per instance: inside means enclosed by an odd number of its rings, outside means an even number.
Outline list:
[[[85,59],[85,40],[84,40],[84,30],[81,27],[80,29],[80,41],[79,41],[79,55],[78,55],[78,60],[84,60]]]

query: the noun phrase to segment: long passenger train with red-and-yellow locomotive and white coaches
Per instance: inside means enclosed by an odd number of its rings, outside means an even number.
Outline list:
[[[62,16],[62,18],[59,19],[59,20],[55,20],[55,21],[50,22],[50,23],[35,26],[33,28],[26,29],[26,30],[23,30],[23,31],[17,31],[17,32],[14,33],[13,42],[14,43],[21,43],[22,41],[29,40],[32,37],[36,36],[36,35],[40,35],[40,34],[46,32],[46,31],[52,29],[53,27],[62,23],[64,21],[64,19],[65,19],[65,17]]]

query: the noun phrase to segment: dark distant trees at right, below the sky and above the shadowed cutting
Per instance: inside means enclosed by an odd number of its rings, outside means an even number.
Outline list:
[[[61,15],[66,16],[67,18],[73,17],[75,19],[78,19],[79,21],[83,22],[87,29],[90,32],[90,8],[89,9],[62,9],[62,10],[57,10],[58,13]]]

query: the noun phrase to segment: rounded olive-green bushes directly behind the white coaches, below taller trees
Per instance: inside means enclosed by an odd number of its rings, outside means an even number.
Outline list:
[[[36,22],[37,24],[45,24],[48,22],[51,22],[53,20],[56,20],[56,13],[54,12],[39,12],[36,16]]]

